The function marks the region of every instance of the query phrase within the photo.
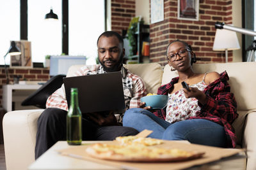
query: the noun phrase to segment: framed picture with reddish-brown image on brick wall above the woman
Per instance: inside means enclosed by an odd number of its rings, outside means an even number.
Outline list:
[[[178,0],[179,20],[199,20],[199,0]]]

